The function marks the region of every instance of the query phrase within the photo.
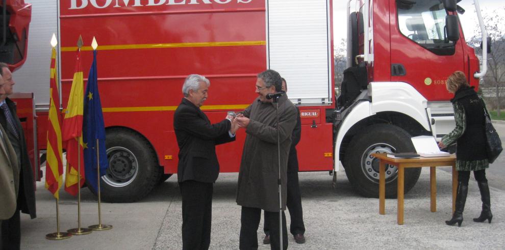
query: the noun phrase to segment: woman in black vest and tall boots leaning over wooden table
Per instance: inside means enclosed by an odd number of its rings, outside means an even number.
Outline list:
[[[493,214],[491,213],[489,186],[486,179],[486,169],[489,168],[484,127],[484,110],[487,113],[486,104],[473,90],[474,87],[468,85],[465,73],[461,71],[456,71],[447,78],[446,87],[450,93],[454,94],[454,98],[450,101],[454,108],[456,128],[442,137],[439,147],[444,148],[457,143],[458,193],[456,195],[456,210],[452,218],[446,220],[445,223],[449,226],[458,223],[458,226],[461,226],[463,222],[463,209],[468,193],[470,171],[473,171],[478,188],[481,190],[482,199],[481,216],[474,218],[473,221],[484,222],[488,220],[491,223]]]

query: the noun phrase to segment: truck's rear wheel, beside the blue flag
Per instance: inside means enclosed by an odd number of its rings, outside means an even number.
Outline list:
[[[100,180],[102,199],[124,203],[146,197],[161,178],[161,167],[148,141],[128,129],[111,129],[106,147],[109,168]]]

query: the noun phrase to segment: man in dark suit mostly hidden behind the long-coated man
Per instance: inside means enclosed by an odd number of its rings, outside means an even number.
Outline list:
[[[282,78],[282,90],[287,92],[286,79]],[[298,110],[298,107],[296,107]],[[291,147],[288,156],[288,171],[287,171],[287,197],[286,206],[288,207],[289,216],[291,217],[291,225],[289,227],[290,233],[293,235],[295,242],[298,244],[305,243],[305,224],[304,215],[301,208],[301,195],[300,186],[298,185],[298,155],[296,154],[296,145],[301,137],[301,120],[300,112],[298,110],[296,116],[296,125],[291,133]],[[266,217],[266,216],[265,216]],[[263,226],[265,238],[263,244],[270,244],[270,229],[268,224]]]

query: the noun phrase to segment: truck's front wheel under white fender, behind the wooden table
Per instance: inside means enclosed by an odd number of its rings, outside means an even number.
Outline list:
[[[379,160],[372,153],[415,152],[410,134],[390,124],[376,124],[355,135],[345,152],[347,179],[361,196],[378,198]],[[386,165],[386,198],[396,198],[398,169]],[[420,168],[405,170],[405,193],[419,179]]]

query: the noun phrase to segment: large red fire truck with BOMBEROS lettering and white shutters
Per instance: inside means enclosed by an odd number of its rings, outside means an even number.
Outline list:
[[[350,69],[337,98],[332,0],[59,1],[63,108],[79,36],[85,72],[91,40],[98,41],[110,163],[103,199],[140,200],[176,173],[173,112],[188,74],[210,79],[202,109],[217,122],[257,97],[256,75],[267,68],[287,79],[288,97],[300,109],[300,171],[333,174],[342,163],[361,195],[377,197],[378,162],[371,154],[412,151],[412,136],[440,139],[454,126],[445,79],[462,70],[477,86],[483,72],[474,74],[479,62],[465,43],[456,0],[352,0],[347,6]],[[48,69],[48,59],[42,65]],[[46,114],[38,109],[41,149]],[[221,172],[238,171],[244,137],[240,131],[235,143],[217,147]],[[396,196],[396,172],[386,170],[388,197]],[[405,175],[408,191],[420,172]]]

